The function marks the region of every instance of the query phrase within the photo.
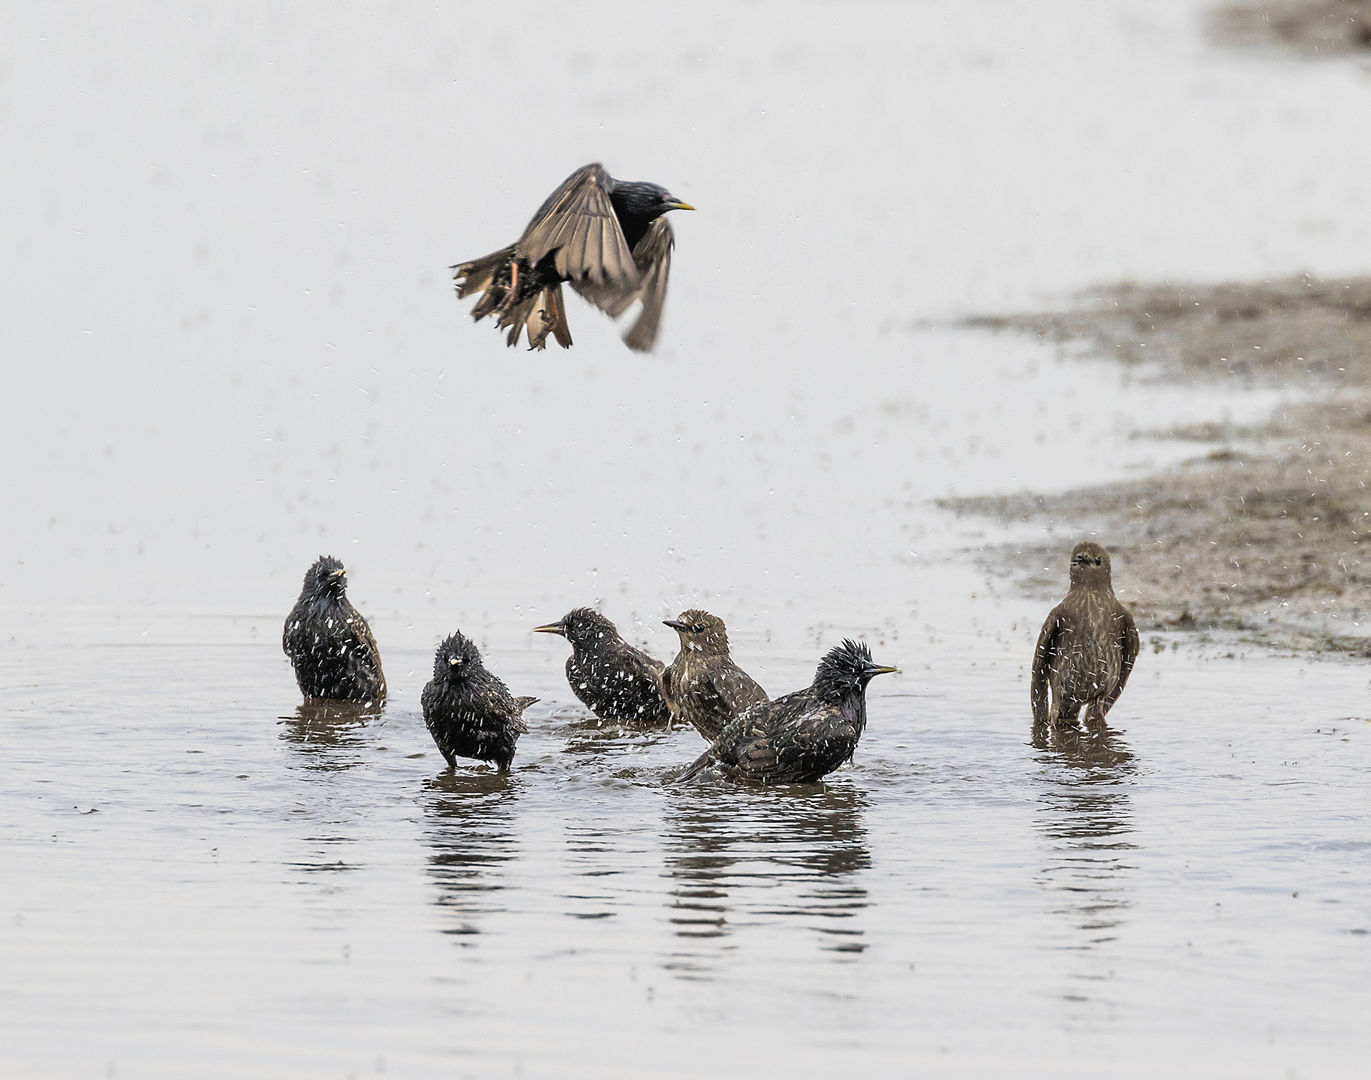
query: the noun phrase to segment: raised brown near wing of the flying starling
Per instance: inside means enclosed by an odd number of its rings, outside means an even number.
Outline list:
[[[573,285],[590,281],[617,291],[638,289],[633,254],[609,199],[611,184],[602,164],[577,169],[533,215],[514,245],[515,254],[537,266],[555,251],[557,273]]]

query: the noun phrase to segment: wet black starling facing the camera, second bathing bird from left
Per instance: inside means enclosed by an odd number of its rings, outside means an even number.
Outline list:
[[[420,698],[424,722],[450,766],[476,758],[495,762],[502,773],[514,761],[514,743],[528,733],[524,710],[536,700],[510,695],[459,630],[437,647],[433,678]]]

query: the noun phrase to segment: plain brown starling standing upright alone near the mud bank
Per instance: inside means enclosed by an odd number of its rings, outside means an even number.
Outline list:
[[[1138,659],[1138,628],[1113,595],[1109,552],[1076,544],[1071,552],[1071,589],[1038,635],[1032,656],[1034,724],[1104,721],[1119,700]],[[1049,700],[1050,691],[1050,700]]]

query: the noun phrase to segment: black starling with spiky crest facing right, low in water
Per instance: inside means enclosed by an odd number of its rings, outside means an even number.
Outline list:
[[[808,689],[743,713],[724,728],[680,780],[710,765],[744,784],[809,784],[849,761],[866,728],[866,684],[894,672],[872,663],[871,650],[846,640],[818,663]]]

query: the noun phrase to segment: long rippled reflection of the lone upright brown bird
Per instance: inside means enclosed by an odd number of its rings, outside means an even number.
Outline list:
[[[1047,889],[1054,916],[1069,929],[1053,935],[1049,948],[1080,954],[1068,970],[1063,996],[1100,999],[1093,983],[1109,977],[1111,954],[1127,920],[1130,852],[1137,844],[1128,787],[1137,765],[1119,732],[1095,722],[1086,729],[1035,725],[1032,744],[1043,766],[1036,831],[1046,851],[1038,884]]]

